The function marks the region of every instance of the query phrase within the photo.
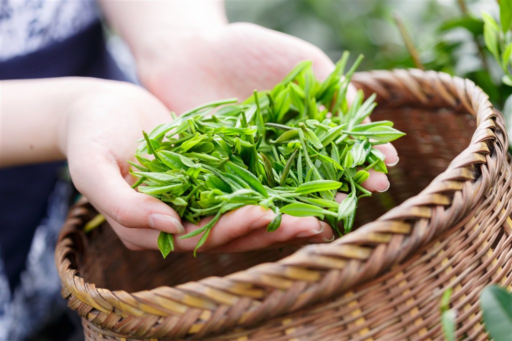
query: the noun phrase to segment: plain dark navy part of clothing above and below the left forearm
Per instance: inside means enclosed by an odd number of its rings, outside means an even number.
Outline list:
[[[65,76],[125,79],[106,51],[99,20],[69,38],[0,62],[0,79]],[[45,216],[48,196],[62,168],[56,162],[0,169],[1,256],[11,290],[19,283],[34,230]]]

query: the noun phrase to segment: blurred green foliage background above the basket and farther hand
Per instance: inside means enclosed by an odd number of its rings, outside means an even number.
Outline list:
[[[481,13],[499,22],[496,0],[226,1],[226,10],[230,22],[255,23],[300,37],[333,61],[344,50],[351,52],[352,61],[362,53],[359,70],[418,66],[404,44],[399,20],[425,69],[472,79],[500,110],[512,91],[502,82],[504,71],[483,38]]]

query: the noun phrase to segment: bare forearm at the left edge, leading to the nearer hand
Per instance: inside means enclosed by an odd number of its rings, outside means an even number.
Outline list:
[[[68,113],[97,83],[90,78],[1,81],[0,166],[65,159]]]

